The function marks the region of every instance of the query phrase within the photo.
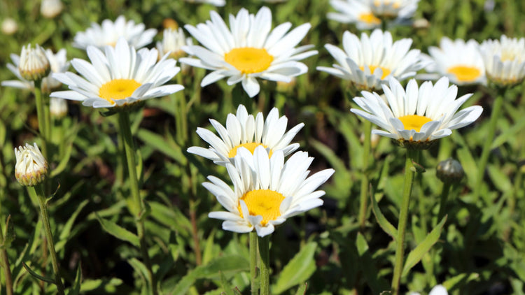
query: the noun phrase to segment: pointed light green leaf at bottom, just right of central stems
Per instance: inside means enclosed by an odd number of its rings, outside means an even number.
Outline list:
[[[316,248],[317,243],[310,242],[295,254],[279,274],[276,285],[272,287],[272,294],[281,294],[311,277],[316,270],[314,259]]]

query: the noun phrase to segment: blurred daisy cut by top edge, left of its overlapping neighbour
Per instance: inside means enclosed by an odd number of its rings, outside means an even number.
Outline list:
[[[330,0],[330,5],[337,10],[337,13],[327,14],[330,20],[356,24],[359,30],[374,29],[381,25],[381,20],[372,13],[367,3],[358,0]]]

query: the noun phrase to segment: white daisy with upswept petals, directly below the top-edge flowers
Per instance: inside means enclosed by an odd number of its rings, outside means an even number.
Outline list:
[[[333,68],[318,66],[317,70],[350,80],[359,90],[380,89],[388,78],[405,80],[427,64],[421,52],[410,50],[410,45],[412,39],[393,42],[390,32],[380,29],[372,31],[370,37],[363,33],[360,39],[345,31],[344,50],[331,44],[325,45],[338,64],[333,64]]]

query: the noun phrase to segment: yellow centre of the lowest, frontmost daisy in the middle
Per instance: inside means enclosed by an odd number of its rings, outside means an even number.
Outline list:
[[[280,206],[284,196],[270,189],[255,189],[254,191],[246,192],[241,197],[241,200],[246,203],[250,215],[262,216],[260,224],[265,226],[270,220],[276,220],[277,217],[281,216]],[[241,203],[239,203],[237,209],[239,209],[239,213],[243,217]]]

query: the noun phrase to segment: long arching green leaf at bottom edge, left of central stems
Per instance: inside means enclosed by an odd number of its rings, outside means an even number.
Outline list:
[[[204,266],[197,266],[186,274],[172,290],[172,294],[186,294],[188,289],[200,278],[213,279],[219,277],[219,272],[226,275],[235,275],[241,271],[249,270],[249,262],[239,255],[218,257]]]

